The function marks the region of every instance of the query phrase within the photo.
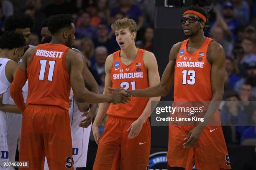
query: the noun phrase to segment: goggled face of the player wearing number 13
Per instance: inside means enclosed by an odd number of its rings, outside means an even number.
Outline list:
[[[189,20],[186,20],[184,23],[182,23],[185,36],[192,37],[196,35],[197,32],[199,32],[201,29],[201,23],[199,21],[200,18],[195,14],[186,14],[182,18],[189,18]]]

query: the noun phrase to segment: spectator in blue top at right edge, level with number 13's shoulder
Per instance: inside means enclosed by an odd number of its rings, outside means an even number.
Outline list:
[[[243,56],[241,58],[241,64],[249,64],[251,62],[256,62],[256,55],[253,54],[253,48],[255,46],[254,40],[251,38],[245,37],[241,43],[243,47]]]

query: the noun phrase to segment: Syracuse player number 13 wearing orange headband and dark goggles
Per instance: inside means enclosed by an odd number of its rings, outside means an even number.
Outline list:
[[[188,168],[188,157],[195,158],[195,166],[200,170],[230,169],[221,126],[206,126],[212,117],[220,124],[217,109],[224,91],[225,53],[220,44],[204,36],[205,22],[206,13],[201,7],[188,7],[181,19],[188,39],[173,45],[161,82],[143,90],[125,90],[132,96],[164,96],[175,82],[174,102],[215,101],[210,102],[204,122],[197,126],[169,126],[170,170]]]

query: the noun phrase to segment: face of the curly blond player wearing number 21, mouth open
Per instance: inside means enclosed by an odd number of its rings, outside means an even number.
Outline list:
[[[136,37],[135,32],[130,32],[129,28],[121,28],[115,31],[115,40],[121,49],[126,49],[134,43]]]

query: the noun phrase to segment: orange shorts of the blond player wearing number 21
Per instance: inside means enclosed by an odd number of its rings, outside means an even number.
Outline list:
[[[146,170],[151,147],[150,123],[146,120],[139,135],[128,139],[127,130],[135,120],[108,117],[93,170]]]

